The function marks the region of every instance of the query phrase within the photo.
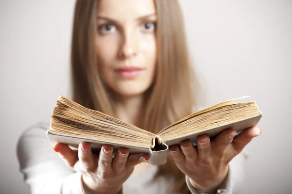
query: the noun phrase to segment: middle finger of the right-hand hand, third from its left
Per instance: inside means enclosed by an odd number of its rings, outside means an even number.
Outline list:
[[[210,161],[211,143],[208,135],[200,135],[197,138],[198,159],[200,162],[208,164]]]

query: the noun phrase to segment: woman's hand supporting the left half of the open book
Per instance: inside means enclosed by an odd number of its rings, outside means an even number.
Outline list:
[[[79,144],[78,151],[66,144],[57,143],[53,148],[67,166],[81,173],[83,187],[88,193],[117,194],[129,178],[134,166],[149,159],[148,154],[132,154],[128,148],[119,148],[112,158],[113,147],[104,145],[99,156],[93,155],[90,143]]]

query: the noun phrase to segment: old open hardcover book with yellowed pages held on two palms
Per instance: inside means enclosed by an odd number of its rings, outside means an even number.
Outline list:
[[[47,136],[52,144],[64,143],[73,149],[81,142],[90,142],[93,152],[105,144],[114,150],[127,147],[130,153],[149,153],[148,163],[160,165],[166,162],[168,146],[186,139],[196,143],[198,135],[211,137],[227,128],[239,132],[256,126],[262,116],[256,102],[235,103],[238,99],[192,113],[154,134],[59,96]]]

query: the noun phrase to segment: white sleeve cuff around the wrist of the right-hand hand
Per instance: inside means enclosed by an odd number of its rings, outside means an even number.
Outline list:
[[[244,179],[243,164],[246,160],[247,153],[242,151],[231,162],[229,162],[228,174],[219,185],[219,189],[216,194],[236,194],[239,192]],[[185,181],[192,194],[203,194],[191,185],[190,179],[187,176],[185,177]]]

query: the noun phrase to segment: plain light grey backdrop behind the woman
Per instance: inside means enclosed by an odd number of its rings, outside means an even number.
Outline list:
[[[292,193],[292,0],[181,0],[202,106],[249,95],[263,113],[243,194]],[[70,96],[74,0],[0,0],[0,194],[28,194],[16,146]],[[36,145],[37,146],[37,145]]]

